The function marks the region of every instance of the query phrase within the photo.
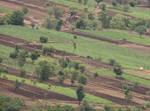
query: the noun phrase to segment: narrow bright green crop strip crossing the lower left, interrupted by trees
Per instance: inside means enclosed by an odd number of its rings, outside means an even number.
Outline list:
[[[66,96],[76,98],[75,91],[71,88],[52,85],[51,89],[49,89],[49,85],[46,83],[37,82],[36,85],[33,85],[32,80],[29,80],[29,79],[13,76],[11,74],[6,74],[6,73],[1,74],[0,77],[2,78],[3,76],[7,77],[8,80],[11,80],[11,81],[18,80],[21,82],[22,80],[25,80],[25,84],[27,84],[27,85],[35,86],[35,87],[38,87],[41,89],[50,90],[50,91],[53,91],[53,92],[56,92],[59,94],[63,94]],[[112,104],[112,102],[109,100],[105,100],[105,99],[102,99],[100,97],[96,97],[96,96],[91,95],[91,94],[86,94],[85,99],[89,102],[98,103],[98,104]]]

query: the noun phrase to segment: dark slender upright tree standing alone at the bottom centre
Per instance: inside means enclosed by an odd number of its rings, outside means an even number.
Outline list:
[[[76,90],[76,95],[77,95],[77,99],[79,101],[79,105],[81,104],[81,101],[84,99],[85,94],[84,94],[84,88],[82,85],[79,85],[77,90]]]

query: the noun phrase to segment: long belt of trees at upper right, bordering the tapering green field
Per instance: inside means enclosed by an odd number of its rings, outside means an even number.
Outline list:
[[[75,24],[78,29],[95,30],[100,28],[113,28],[132,30],[136,31],[140,36],[146,32],[146,29],[150,28],[150,21],[137,18],[133,19],[121,14],[117,14],[113,17],[110,16],[104,4],[98,19],[96,19],[92,13],[89,13],[77,20]]]

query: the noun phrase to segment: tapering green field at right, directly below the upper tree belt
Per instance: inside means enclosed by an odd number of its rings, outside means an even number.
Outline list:
[[[150,38],[148,36],[139,36],[135,32],[128,32],[124,30],[102,30],[102,31],[88,31],[88,30],[82,30],[82,32],[85,32],[87,34],[92,34],[99,37],[105,37],[112,40],[127,40],[134,43],[149,45],[150,44]]]

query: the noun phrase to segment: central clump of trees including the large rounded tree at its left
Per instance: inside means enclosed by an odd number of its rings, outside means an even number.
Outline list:
[[[68,58],[60,59],[58,63],[40,61],[36,67],[36,74],[39,80],[46,81],[50,77],[56,76],[60,83],[70,79],[71,85],[76,82],[86,84],[85,67],[77,62],[70,61]]]

